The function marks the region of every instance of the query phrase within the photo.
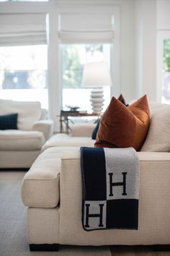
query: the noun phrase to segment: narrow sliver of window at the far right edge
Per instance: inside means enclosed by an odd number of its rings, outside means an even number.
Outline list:
[[[163,43],[162,103],[170,104],[170,39]]]

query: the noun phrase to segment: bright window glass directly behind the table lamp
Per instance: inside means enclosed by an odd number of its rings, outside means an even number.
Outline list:
[[[79,106],[91,111],[91,89],[81,88],[85,63],[107,61],[110,67],[110,44],[61,44],[63,108]],[[104,108],[110,100],[110,88],[104,87]]]

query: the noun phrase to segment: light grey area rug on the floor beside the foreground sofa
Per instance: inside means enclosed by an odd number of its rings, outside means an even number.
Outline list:
[[[0,171],[1,256],[111,256],[109,247],[61,246],[59,252],[30,252],[26,238],[27,208],[20,187],[24,171]]]

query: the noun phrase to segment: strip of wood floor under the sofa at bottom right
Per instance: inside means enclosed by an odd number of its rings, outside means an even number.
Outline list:
[[[112,256],[170,256],[170,251],[153,251],[151,247],[110,247],[110,250]]]

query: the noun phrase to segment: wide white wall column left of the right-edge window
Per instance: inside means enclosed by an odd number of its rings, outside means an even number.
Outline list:
[[[135,1],[136,95],[156,101],[156,1]]]

